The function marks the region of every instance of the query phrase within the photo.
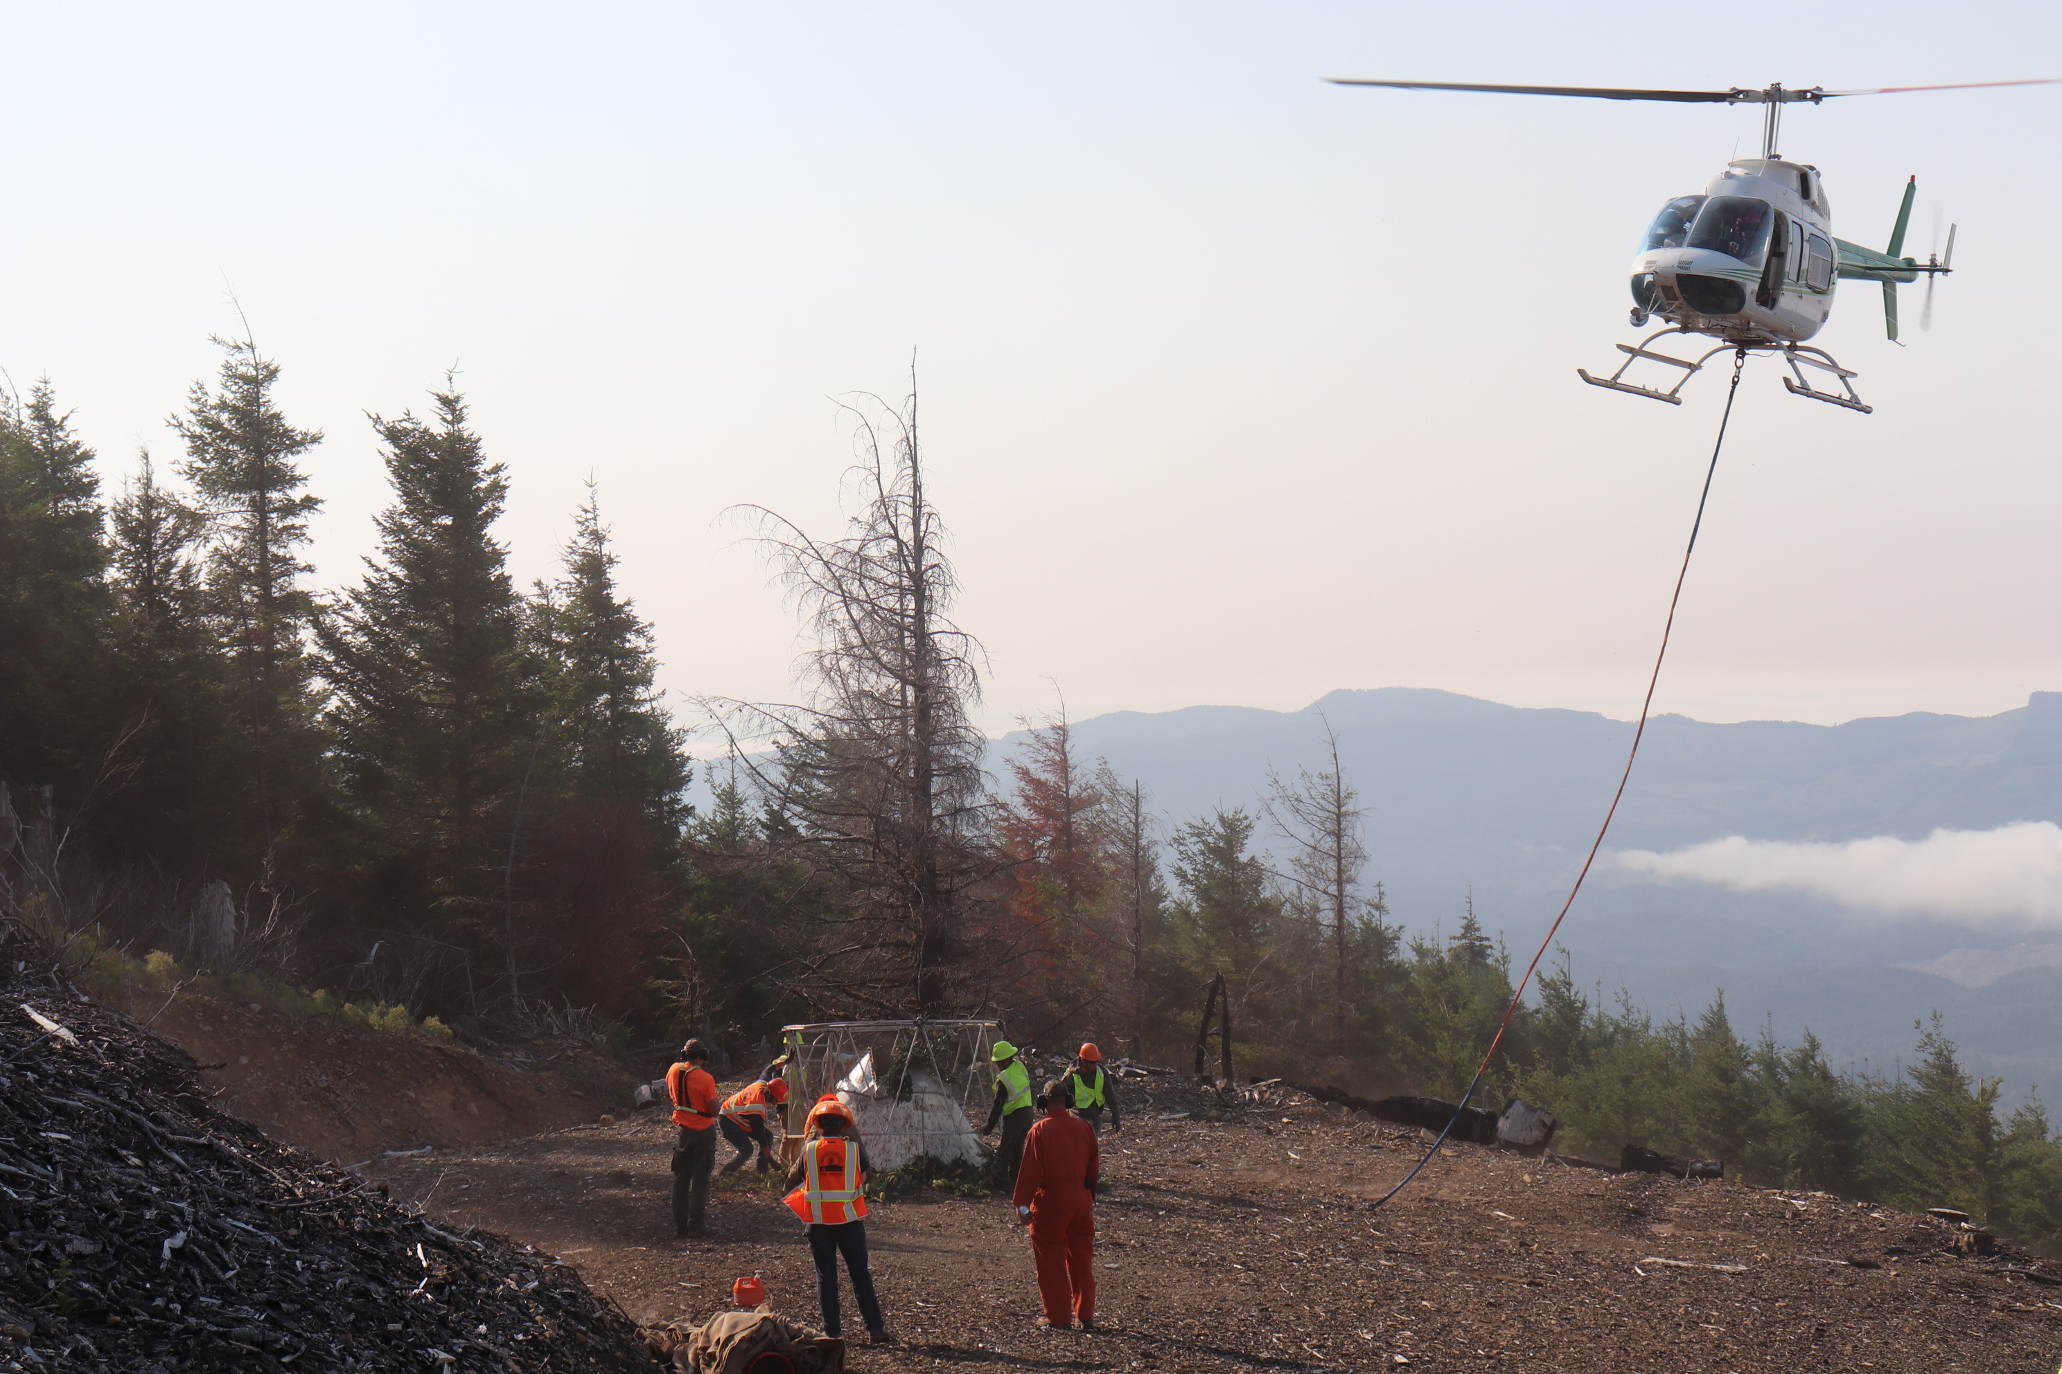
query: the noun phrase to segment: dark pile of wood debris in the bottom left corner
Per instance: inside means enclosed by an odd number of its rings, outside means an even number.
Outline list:
[[[0,1370],[650,1370],[555,1259],[225,1117],[194,1065],[0,974]]]

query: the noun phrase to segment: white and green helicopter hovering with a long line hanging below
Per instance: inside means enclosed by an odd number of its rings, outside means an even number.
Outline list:
[[[1918,177],[1905,183],[1897,225],[1885,251],[1833,237],[1833,212],[1825,183],[1810,163],[1786,161],[1777,152],[1784,105],[1819,105],[1848,95],[1907,95],[1914,91],[1971,91],[1980,87],[2037,87],[2037,80],[1977,80],[1947,87],[1878,87],[1874,91],[1825,91],[1823,87],[1788,89],[1769,84],[1761,91],[1732,87],[1728,91],[1631,91],[1610,87],[1495,87],[1443,80],[1357,80],[1326,78],[1338,87],[1394,87],[1402,91],[1489,91],[1497,95],[1573,95],[1602,101],[1676,101],[1763,105],[1761,157],[1734,159],[1705,183],[1699,196],[1674,196],[1648,227],[1639,253],[1633,257],[1633,328],[1645,328],[1650,317],[1668,328],[1639,344],[1619,344],[1627,354],[1610,377],[1575,373],[1596,387],[1645,396],[1681,406],[1683,385],[1720,352],[1767,350],[1790,365],[1784,387],[1848,410],[1870,414],[1870,406],[1854,391],[1858,373],[1841,367],[1833,354],[1808,340],[1825,328],[1833,313],[1833,288],[1839,280],[1883,284],[1883,321],[1891,342],[1897,342],[1897,286],[1926,276],[1926,305],[1920,328],[1930,328],[1932,286],[1955,268],[1955,227],[1949,227],[1947,251],[1930,253],[1926,262],[1905,257],[1905,227],[1911,220],[1911,200]],[[1722,340],[1695,360],[1656,352],[1652,344],[1672,334]],[[1625,381],[1635,363],[1664,363],[1683,369],[1676,383],[1662,391]],[[1831,375],[1839,389],[1812,385],[1804,369]]]

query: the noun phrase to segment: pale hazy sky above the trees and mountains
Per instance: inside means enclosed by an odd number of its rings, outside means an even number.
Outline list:
[[[1876,87],[2058,76],[2054,4],[202,4],[4,10],[0,367],[111,474],[239,330],[285,365],[324,585],[384,503],[365,412],[447,367],[553,566],[600,482],[683,694],[786,696],[718,523],[835,531],[831,396],[920,352],[996,729],[1439,686],[1637,711],[1722,400],[1584,387],[1625,268],[1757,107],[1320,76]],[[1732,35],[1728,41],[1726,35]],[[1841,237],[1920,177],[1936,330],[1848,284],[1876,404],[1749,365],[1658,707],[1994,713],[2062,688],[2062,87],[1792,109]]]

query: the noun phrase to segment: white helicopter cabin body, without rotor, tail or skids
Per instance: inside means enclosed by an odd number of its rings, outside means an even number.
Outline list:
[[[1833,311],[1839,249],[1819,169],[1738,159],[1662,206],[1633,260],[1633,323],[1662,315],[1736,344],[1800,344]]]

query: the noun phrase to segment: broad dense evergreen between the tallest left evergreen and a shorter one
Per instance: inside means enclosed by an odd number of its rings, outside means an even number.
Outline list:
[[[466,426],[464,398],[433,398],[429,420],[373,420],[394,505],[320,641],[336,762],[386,906],[478,952],[509,925],[503,855],[540,700],[491,534],[505,472]]]

